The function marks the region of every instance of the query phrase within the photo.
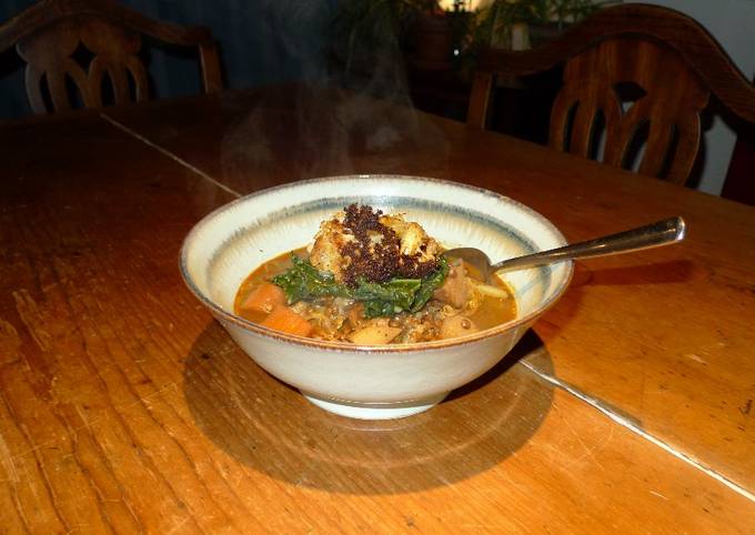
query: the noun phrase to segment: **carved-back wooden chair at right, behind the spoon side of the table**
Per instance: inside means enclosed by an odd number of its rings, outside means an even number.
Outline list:
[[[667,8],[622,4],[598,11],[546,44],[522,52],[486,50],[475,73],[467,123],[485,128],[494,77],[521,77],[563,65],[551,110],[548,144],[585,158],[631,166],[646,132],[638,172],[684,183],[699,148],[699,113],[713,93],[755,122],[755,88],[716,40],[693,19]],[[625,82],[640,98],[624,102]],[[638,88],[636,88],[638,87]],[[643,141],[643,140],[640,140]]]

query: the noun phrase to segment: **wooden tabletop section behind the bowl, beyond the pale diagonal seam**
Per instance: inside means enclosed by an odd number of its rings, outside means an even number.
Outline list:
[[[202,104],[195,115],[162,105],[160,121],[149,105],[110,117],[239,193],[344,173],[460,180],[534,208],[570,241],[684,216],[681,245],[577,263],[535,330],[558,344],[561,380],[755,487],[752,208],[339,91]]]

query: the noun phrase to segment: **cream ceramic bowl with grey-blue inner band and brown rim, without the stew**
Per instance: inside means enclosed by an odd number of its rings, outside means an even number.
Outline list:
[[[415,176],[295,182],[246,195],[207,215],[181,250],[189,289],[256,364],[326,411],[382,420],[432,407],[495,365],[568,285],[572,262],[505,273],[519,306],[514,321],[462,339],[417,344],[321,342],[233,314],[235,292],[250,272],[310,243],[321,221],[352,202],[405,213],[445,248],[475,246],[494,261],[566,243],[551,222],[516,201]]]

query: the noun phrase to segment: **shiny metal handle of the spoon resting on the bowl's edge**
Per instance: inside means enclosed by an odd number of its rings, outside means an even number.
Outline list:
[[[684,239],[686,223],[682,218],[671,218],[637,229],[611,234],[607,236],[574,243],[550,251],[542,251],[526,256],[504,260],[491,266],[491,273],[526,265],[542,265],[560,260],[588,259],[607,254],[628,253],[643,249],[657,248]]]

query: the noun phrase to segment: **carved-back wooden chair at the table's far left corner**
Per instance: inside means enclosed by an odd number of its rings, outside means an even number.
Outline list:
[[[36,113],[149,99],[149,81],[138,53],[141,38],[195,47],[204,91],[222,90],[220,62],[207,28],[149,19],[113,0],[44,0],[0,26],[0,52],[16,46],[27,62],[26,89]],[[81,47],[90,61],[81,64]],[[72,91],[78,91],[79,99]]]

